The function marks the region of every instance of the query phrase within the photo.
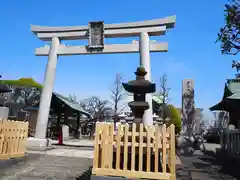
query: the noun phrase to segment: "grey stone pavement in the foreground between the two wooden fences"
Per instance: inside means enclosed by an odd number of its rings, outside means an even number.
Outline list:
[[[0,180],[76,180],[91,165],[89,158],[28,154],[0,161]]]

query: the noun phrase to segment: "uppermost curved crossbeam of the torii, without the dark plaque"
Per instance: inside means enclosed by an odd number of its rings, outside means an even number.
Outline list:
[[[176,23],[176,16],[169,16],[162,19],[154,19],[139,22],[105,24],[105,37],[132,37],[139,36],[139,32],[146,31],[150,36],[165,34],[167,28],[173,28]],[[51,41],[52,37],[59,37],[61,40],[87,39],[88,26],[63,26],[49,27],[31,25],[31,31],[39,39]]]

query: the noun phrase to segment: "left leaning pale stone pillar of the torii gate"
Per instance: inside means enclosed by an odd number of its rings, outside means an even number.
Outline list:
[[[52,92],[54,87],[54,80],[56,75],[59,39],[52,38],[52,44],[48,55],[48,63],[46,67],[43,89],[41,93],[35,138],[45,139],[48,125],[48,117],[52,99]]]

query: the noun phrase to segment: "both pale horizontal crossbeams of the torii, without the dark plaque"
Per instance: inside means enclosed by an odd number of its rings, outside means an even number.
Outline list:
[[[154,19],[139,22],[104,24],[104,38],[118,37],[139,37],[141,32],[148,33],[149,36],[164,35],[168,28],[173,28],[176,16],[169,16],[162,19]],[[65,26],[46,27],[31,25],[31,31],[43,41],[52,41],[53,37],[59,40],[78,40],[89,38],[89,26]],[[48,56],[50,48],[48,46],[36,48],[37,56]],[[168,43],[150,43],[150,52],[167,52]],[[80,54],[109,54],[109,53],[137,53],[138,44],[111,44],[104,45],[101,51],[89,51],[86,46],[66,46],[59,45],[58,55],[80,55]]]

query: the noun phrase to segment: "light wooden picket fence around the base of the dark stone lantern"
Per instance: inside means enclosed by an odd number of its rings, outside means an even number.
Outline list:
[[[176,179],[175,126],[97,123],[92,174]]]

